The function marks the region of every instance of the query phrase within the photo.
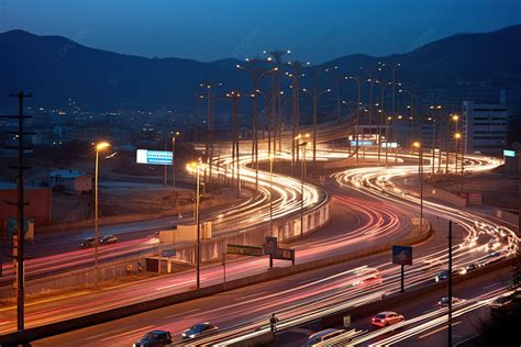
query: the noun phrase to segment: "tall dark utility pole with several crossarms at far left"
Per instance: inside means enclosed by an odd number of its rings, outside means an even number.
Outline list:
[[[29,147],[24,147],[24,135],[32,135],[32,133],[24,132],[23,128],[23,120],[31,119],[29,115],[23,115],[23,101],[25,98],[32,98],[32,93],[24,93],[21,90],[18,93],[11,93],[10,97],[18,98],[18,105],[19,105],[19,114],[18,115],[7,115],[2,116],[5,119],[15,119],[18,120],[18,131],[15,132],[8,132],[8,134],[13,134],[18,137],[18,146],[14,147],[5,147],[8,149],[16,149],[18,150],[18,166],[13,166],[11,168],[18,170],[18,179],[16,179],[16,190],[18,190],[18,201],[16,202],[8,202],[8,204],[16,205],[16,234],[13,235],[13,258],[15,259],[13,262],[14,268],[14,287],[16,289],[16,329],[19,332],[23,332],[25,328],[24,324],[24,306],[25,306],[25,266],[24,266],[24,243],[25,243],[25,215],[24,215],[24,208],[29,203],[25,202],[24,198],[24,183],[23,183],[23,171],[29,170],[30,168],[24,166],[24,150],[29,149]]]

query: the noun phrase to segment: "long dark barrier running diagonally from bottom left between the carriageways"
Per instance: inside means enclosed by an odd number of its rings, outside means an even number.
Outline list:
[[[420,243],[420,242],[425,240],[430,236],[431,236],[430,232],[414,233],[414,235],[411,235],[410,237],[402,239],[400,244],[410,245],[413,243]],[[392,247],[392,243],[386,243],[385,245],[368,247],[366,249],[361,249],[361,250],[352,251],[348,254],[337,255],[337,256],[333,256],[333,257],[329,257],[329,258],[324,258],[320,260],[309,261],[306,264],[298,264],[298,265],[287,267],[287,268],[269,269],[268,271],[263,272],[263,273],[240,278],[240,279],[232,280],[225,283],[219,283],[219,284],[213,284],[210,287],[204,287],[204,288],[201,288],[200,290],[192,290],[192,291],[178,293],[178,294],[159,298],[155,300],[149,300],[149,301],[145,301],[141,303],[135,303],[135,304],[131,304],[131,305],[126,305],[122,307],[111,309],[108,311],[93,313],[93,314],[80,316],[77,318],[46,324],[46,325],[29,328],[24,332],[24,334],[20,332],[15,332],[15,333],[2,335],[0,336],[0,345],[4,346],[9,344],[21,344],[21,343],[26,343],[30,340],[41,339],[48,336],[84,328],[87,326],[119,320],[119,318],[134,315],[137,313],[156,310],[164,306],[169,306],[169,305],[177,304],[180,302],[213,295],[213,294],[221,293],[228,290],[239,289],[242,287],[246,287],[246,286],[251,286],[251,284],[255,284],[255,283],[259,283],[264,281],[270,281],[270,280],[279,279],[286,276],[322,268],[322,267],[330,266],[337,262],[344,262],[344,261],[355,259],[358,257],[364,257],[364,256],[380,253],[384,250],[389,250],[391,247]]]

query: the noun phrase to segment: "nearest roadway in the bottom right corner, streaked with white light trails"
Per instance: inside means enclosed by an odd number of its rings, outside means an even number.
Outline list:
[[[509,292],[507,282],[512,269],[505,268],[488,275],[458,283],[453,295],[462,301],[453,306],[453,344],[461,343],[478,333],[481,320],[488,317],[489,302]],[[357,338],[340,336],[331,344],[359,346],[445,346],[447,344],[447,309],[440,307],[437,301],[447,295],[447,290],[439,290],[420,299],[388,307],[406,317],[406,321],[386,328],[375,328],[370,318],[378,312],[354,320],[346,331],[359,332]],[[343,326],[332,326],[344,328]],[[325,327],[312,323],[281,333],[275,346],[302,346],[308,336]]]

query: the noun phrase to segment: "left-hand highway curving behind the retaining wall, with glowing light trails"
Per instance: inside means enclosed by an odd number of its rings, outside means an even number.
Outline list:
[[[260,159],[267,160],[267,154],[262,153]],[[243,155],[240,161],[241,180],[252,184],[255,181],[255,171],[247,167],[250,156]],[[215,175],[231,177],[231,157],[223,156],[215,167]],[[273,187],[273,219],[277,221],[289,215],[300,213],[300,180],[274,175]],[[219,237],[234,233],[245,232],[248,228],[266,224],[269,221],[269,175],[259,175],[258,193],[245,201],[231,204],[224,209],[212,209],[201,214],[202,221],[212,221],[212,236]],[[303,211],[313,209],[328,199],[328,194],[313,184],[304,183]],[[135,258],[157,254],[158,238],[155,232],[170,228],[179,223],[193,223],[191,216],[185,219],[162,217],[151,221],[123,223],[120,225],[102,226],[100,235],[115,234],[121,242],[99,247],[100,262],[114,259]],[[34,256],[26,260],[26,279],[41,278],[47,275],[70,271],[93,265],[93,248],[79,249],[79,240],[91,236],[91,228],[80,228],[60,236],[36,240],[27,246],[27,254]],[[12,262],[3,265],[3,277],[0,286],[10,286],[12,281]]]

